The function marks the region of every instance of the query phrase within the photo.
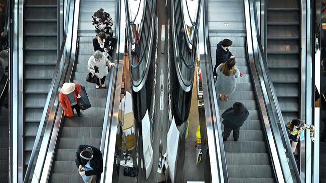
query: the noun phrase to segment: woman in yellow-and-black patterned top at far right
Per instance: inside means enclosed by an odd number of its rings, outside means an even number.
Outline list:
[[[312,124],[305,124],[300,119],[292,119],[286,123],[287,135],[289,139],[292,140],[292,152],[294,153],[296,144],[299,140],[304,139],[304,130],[310,130],[311,141],[314,142],[313,131],[314,126]]]

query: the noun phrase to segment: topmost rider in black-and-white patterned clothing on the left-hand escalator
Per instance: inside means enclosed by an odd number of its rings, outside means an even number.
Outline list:
[[[109,13],[105,12],[103,8],[100,8],[99,10],[93,13],[92,18],[96,33],[104,31],[106,34],[109,34],[110,37],[113,36],[113,20]]]

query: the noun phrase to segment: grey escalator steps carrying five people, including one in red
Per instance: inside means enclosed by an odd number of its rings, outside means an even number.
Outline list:
[[[107,5],[103,6],[103,3]],[[109,88],[110,77],[106,77],[105,85],[107,88],[105,89],[96,89],[95,84],[85,81],[88,74],[87,62],[89,57],[94,53],[92,39],[94,38],[95,32],[90,19],[92,14],[100,8],[103,8],[110,14],[115,14],[116,1],[80,1],[78,53],[75,71],[72,72],[72,81],[86,87],[86,92],[92,107],[82,111],[83,116],[81,117],[65,117],[63,119],[61,134],[59,134],[60,137],[58,138],[59,143],[52,164],[50,182],[82,182],[80,175],[76,173],[75,158],[78,146],[80,144],[88,144],[99,149],[101,146],[106,98],[108,90],[111,89]],[[115,30],[114,26],[115,23],[112,27],[113,32]]]

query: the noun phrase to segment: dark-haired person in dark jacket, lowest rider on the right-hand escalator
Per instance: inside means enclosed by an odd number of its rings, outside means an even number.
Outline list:
[[[233,139],[238,141],[240,135],[240,127],[247,119],[249,112],[241,102],[235,102],[232,107],[226,109],[222,113],[224,124],[223,141],[226,141],[233,130]]]

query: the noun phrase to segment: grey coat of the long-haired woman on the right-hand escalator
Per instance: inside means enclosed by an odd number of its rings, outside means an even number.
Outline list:
[[[220,64],[217,69],[217,79],[216,79],[216,91],[217,93],[230,95],[234,92],[235,86],[237,85],[237,78],[240,76],[240,71],[235,67],[236,73],[232,75],[224,75],[220,70],[222,64]]]

